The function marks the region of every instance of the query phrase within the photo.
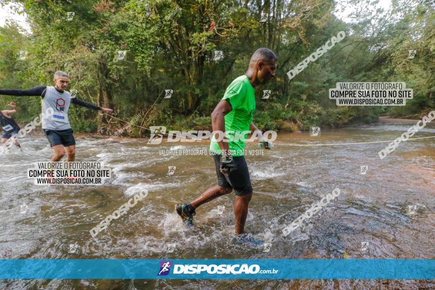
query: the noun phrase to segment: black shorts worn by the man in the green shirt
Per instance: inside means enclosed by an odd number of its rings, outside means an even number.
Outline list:
[[[233,188],[238,196],[252,193],[251,178],[244,156],[233,156],[234,169],[229,174],[219,171],[220,155],[213,155],[216,165],[217,184],[220,187]]]

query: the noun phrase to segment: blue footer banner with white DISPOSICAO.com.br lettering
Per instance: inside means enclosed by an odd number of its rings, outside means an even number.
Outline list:
[[[435,279],[435,259],[0,259],[0,279]]]

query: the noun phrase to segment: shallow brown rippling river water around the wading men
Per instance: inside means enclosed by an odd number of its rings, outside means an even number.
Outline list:
[[[77,138],[77,161],[112,168],[104,186],[36,186],[26,170],[48,161],[42,136],[21,140],[24,152],[1,155],[1,258],[435,258],[435,138],[388,143],[295,147],[392,140],[410,125],[377,125],[279,133],[275,148],[247,156],[254,196],[246,231],[271,244],[233,241],[234,194],[202,207],[184,228],[174,204],[216,184],[211,156],[161,156],[163,149],[207,149],[207,142],[147,145],[146,140]],[[435,135],[425,128],[414,137]],[[248,144],[247,149],[256,149]],[[281,159],[281,160],[280,160]],[[278,166],[267,169],[274,162]],[[168,174],[168,166],[175,166]],[[365,174],[361,166],[367,166]],[[340,196],[302,227],[281,229],[334,188]],[[142,189],[149,194],[94,239],[89,230]],[[27,211],[20,213],[20,205]],[[222,207],[223,206],[223,207]],[[223,208],[223,210],[222,210]],[[221,212],[221,213],[220,213]],[[70,245],[77,245],[69,253]],[[75,246],[76,247],[76,246]],[[408,287],[408,288],[407,288]],[[429,280],[8,280],[4,289],[434,289]]]

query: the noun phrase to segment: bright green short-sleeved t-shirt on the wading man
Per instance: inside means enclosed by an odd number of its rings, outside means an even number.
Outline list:
[[[225,91],[222,100],[231,104],[232,111],[225,115],[225,134],[229,140],[228,146],[232,156],[243,156],[245,141],[248,136],[252,117],[255,112],[255,89],[249,83],[248,76],[235,79]],[[210,150],[220,153],[215,136],[212,138]]]

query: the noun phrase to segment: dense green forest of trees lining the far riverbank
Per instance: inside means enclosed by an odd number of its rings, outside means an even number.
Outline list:
[[[278,55],[276,77],[256,92],[254,122],[264,129],[306,129],[375,122],[379,115],[419,116],[435,108],[435,4],[432,0],[348,0],[350,23],[332,13],[337,0],[22,0],[32,35],[9,23],[0,28],[0,88],[52,85],[52,75],[70,75],[78,97],[113,108],[135,124],[173,130],[206,129],[229,83],[246,72],[255,49]],[[71,21],[67,12],[74,12]],[[261,13],[269,14],[260,22]],[[286,73],[345,31],[337,43],[291,81]],[[416,50],[408,58],[408,50]],[[117,61],[117,51],[126,50]],[[215,50],[223,59],[213,60]],[[19,51],[27,51],[25,60]],[[337,82],[405,82],[414,99],[405,107],[338,107],[328,89]],[[173,89],[165,99],[165,89]],[[261,99],[262,90],[272,91]],[[16,119],[33,120],[38,97],[16,101]],[[98,112],[72,106],[76,131],[111,134],[124,126]],[[124,135],[144,136],[131,127]]]

